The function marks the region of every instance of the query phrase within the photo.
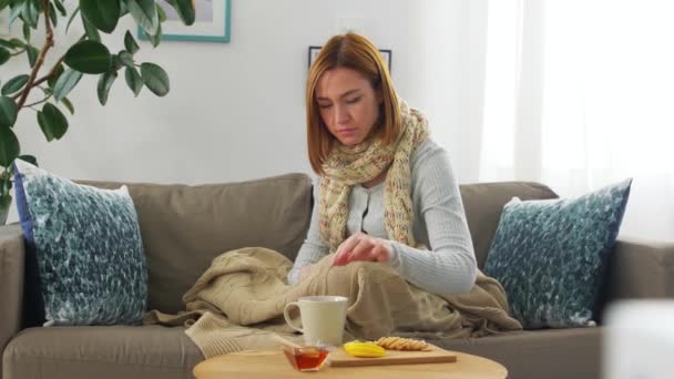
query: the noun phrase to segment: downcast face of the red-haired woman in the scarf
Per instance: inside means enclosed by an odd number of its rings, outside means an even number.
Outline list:
[[[336,68],[324,72],[315,93],[323,122],[344,145],[365,141],[379,120],[381,92],[358,71]]]

